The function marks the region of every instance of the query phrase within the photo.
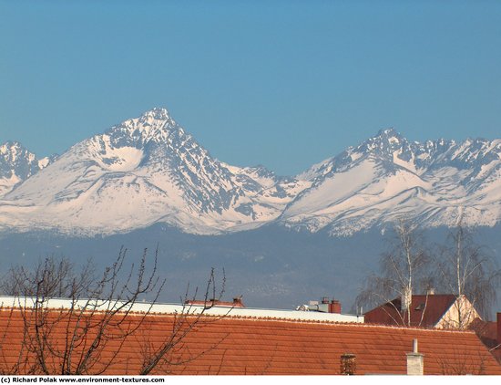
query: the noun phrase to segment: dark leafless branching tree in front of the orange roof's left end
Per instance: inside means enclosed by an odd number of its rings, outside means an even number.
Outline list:
[[[157,274],[158,250],[148,264],[145,249],[139,264],[128,269],[126,256],[127,250],[121,249],[116,261],[101,276],[94,274],[90,263],[77,273],[66,258],[46,258],[33,270],[12,268],[2,290],[15,296],[7,319],[14,319],[15,311],[20,313],[23,338],[18,361],[1,370],[9,374],[98,375],[117,364],[127,341],[137,338],[138,331],[148,330],[143,326],[165,285]],[[169,363],[165,358],[182,345],[191,330],[201,327],[205,310],[214,304],[209,297],[210,293],[216,294],[215,286],[212,270],[206,289],[207,306],[197,315],[191,307],[183,307],[176,315],[176,328],[165,343],[145,349],[148,354],[140,374],[148,374],[160,364],[165,367]],[[189,290],[187,297],[188,293]],[[147,296],[151,301],[146,311],[134,312],[138,299]],[[55,297],[65,297],[66,306],[56,307]],[[3,336],[7,333],[9,325],[5,325]],[[2,341],[5,338],[0,338]]]

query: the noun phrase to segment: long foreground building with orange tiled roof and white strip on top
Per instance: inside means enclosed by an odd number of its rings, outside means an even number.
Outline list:
[[[149,374],[501,374],[469,330],[229,306],[200,314],[203,306],[141,303],[108,317],[115,304],[100,302],[85,311],[64,299],[36,311],[33,298],[3,297],[0,304],[4,374],[41,374],[41,356],[51,374],[83,368],[84,374],[135,375],[150,364]],[[87,355],[92,359],[82,364]]]

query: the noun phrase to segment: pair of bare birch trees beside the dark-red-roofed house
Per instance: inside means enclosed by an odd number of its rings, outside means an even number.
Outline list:
[[[500,286],[496,258],[485,245],[475,242],[474,229],[459,222],[443,244],[430,244],[416,224],[400,220],[381,255],[379,270],[367,276],[355,305],[368,309],[391,303],[394,298],[408,301],[413,294],[431,293],[433,288],[436,293],[466,297],[476,312],[488,319]],[[410,312],[398,310],[398,323],[410,325]],[[471,308],[458,305],[456,310],[458,320],[451,328],[465,328],[471,321],[467,314]]]

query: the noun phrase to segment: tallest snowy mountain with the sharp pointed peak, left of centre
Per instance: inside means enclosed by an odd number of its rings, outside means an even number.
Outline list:
[[[111,234],[161,222],[218,234],[275,219],[295,184],[211,158],[166,109],[153,109],[77,143],[6,194],[0,223]]]

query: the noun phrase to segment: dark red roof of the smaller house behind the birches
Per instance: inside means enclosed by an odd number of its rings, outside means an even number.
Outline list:
[[[413,296],[409,307],[410,325],[433,328],[454,302],[455,296],[452,294]],[[402,311],[401,305],[401,299],[395,298],[380,307],[375,307],[364,314],[365,322],[382,325],[406,325],[408,316],[407,312]]]

